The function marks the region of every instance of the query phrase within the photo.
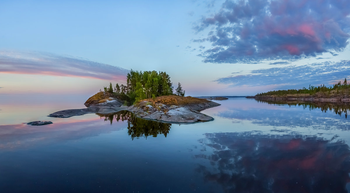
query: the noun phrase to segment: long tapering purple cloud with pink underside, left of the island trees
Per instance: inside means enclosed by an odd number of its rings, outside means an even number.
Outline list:
[[[49,53],[0,52],[0,73],[124,80],[128,72],[108,64]]]

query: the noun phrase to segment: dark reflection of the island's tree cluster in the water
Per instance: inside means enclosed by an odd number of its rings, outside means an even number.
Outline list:
[[[169,123],[160,123],[135,117],[134,114],[129,111],[98,115],[104,117],[105,121],[110,121],[111,125],[113,120],[117,122],[128,121],[128,134],[131,136],[132,140],[135,138],[139,139],[142,136],[147,139],[148,136],[156,137],[159,134],[163,134],[167,137],[167,134],[172,127],[172,124]]]

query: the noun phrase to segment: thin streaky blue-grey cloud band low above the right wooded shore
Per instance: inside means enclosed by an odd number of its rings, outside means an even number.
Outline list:
[[[219,78],[215,82],[231,84],[232,86],[277,85],[282,87],[290,85],[293,88],[299,88],[300,86],[307,87],[309,84],[315,86],[329,84],[332,81],[348,78],[349,74],[350,60],[343,60],[340,62],[251,70],[250,74],[231,75]]]

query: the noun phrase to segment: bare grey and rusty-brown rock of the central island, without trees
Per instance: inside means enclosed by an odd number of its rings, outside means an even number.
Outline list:
[[[220,104],[195,97],[176,95],[143,99],[134,105],[109,92],[101,91],[84,103],[85,109],[69,109],[51,113],[49,117],[68,118],[87,113],[109,114],[122,110],[134,113],[136,117],[165,123],[188,124],[214,120],[199,111]]]

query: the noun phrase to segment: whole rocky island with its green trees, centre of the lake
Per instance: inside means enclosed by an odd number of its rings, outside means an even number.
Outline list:
[[[173,88],[166,72],[130,70],[126,85],[117,83],[113,88],[110,83],[109,87],[104,87],[103,91],[100,90],[87,99],[84,103],[87,108],[58,111],[49,117],[67,118],[87,113],[110,114],[126,110],[136,117],[165,123],[186,124],[214,120],[199,111],[220,104],[185,97],[180,82],[175,93]]]

